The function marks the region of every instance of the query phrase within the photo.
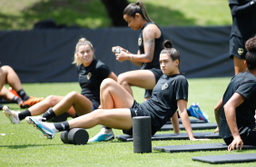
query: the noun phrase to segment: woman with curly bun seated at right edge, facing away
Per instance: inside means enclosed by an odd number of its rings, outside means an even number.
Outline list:
[[[231,79],[222,99],[215,107],[220,136],[228,150],[240,149],[243,144],[256,145],[256,36],[245,47],[247,71]]]

